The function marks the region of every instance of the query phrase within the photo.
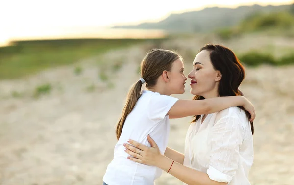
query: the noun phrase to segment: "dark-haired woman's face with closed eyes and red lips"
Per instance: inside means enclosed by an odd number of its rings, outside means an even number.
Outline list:
[[[209,55],[210,51],[207,50],[199,52],[193,61],[193,69],[188,75],[191,79],[191,94],[204,98],[218,96],[218,84],[221,80],[221,73],[214,69]]]

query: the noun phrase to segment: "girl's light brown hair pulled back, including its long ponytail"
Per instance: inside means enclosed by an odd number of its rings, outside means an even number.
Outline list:
[[[162,73],[164,71],[170,71],[172,69],[172,63],[179,58],[182,57],[178,53],[170,50],[150,50],[141,62],[141,77],[146,81],[146,87],[151,88],[156,85],[157,79]],[[128,92],[122,116],[116,125],[117,139],[119,139],[122,134],[126,117],[133,110],[141,96],[142,84],[141,80],[138,80]]]

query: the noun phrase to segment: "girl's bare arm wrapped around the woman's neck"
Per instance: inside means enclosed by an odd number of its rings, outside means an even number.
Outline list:
[[[255,110],[251,102],[244,96],[216,97],[205,100],[178,100],[168,112],[172,118],[210,114],[232,106],[243,106],[250,114],[250,121],[255,118]]]

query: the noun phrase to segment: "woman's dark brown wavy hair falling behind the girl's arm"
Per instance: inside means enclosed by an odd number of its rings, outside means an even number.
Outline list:
[[[221,80],[218,87],[219,96],[237,96],[241,95],[238,90],[239,85],[245,78],[245,70],[237,56],[227,47],[208,44],[203,46],[199,52],[207,50],[210,52],[210,61],[215,70],[221,72]],[[196,95],[193,100],[203,100],[203,96]],[[247,118],[251,115],[244,109],[243,106],[238,106],[245,111]],[[193,117],[192,123],[196,122],[200,115]],[[252,134],[254,133],[253,122],[250,122]]]

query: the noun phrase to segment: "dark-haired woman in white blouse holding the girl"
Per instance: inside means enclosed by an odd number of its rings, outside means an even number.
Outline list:
[[[194,100],[240,94],[238,87],[245,71],[228,48],[212,44],[202,47],[193,66],[188,77]],[[185,185],[250,185],[254,130],[249,117],[243,107],[194,116],[186,135],[185,154],[167,148],[164,156],[148,136],[151,148],[133,140],[131,145],[125,144],[131,155],[128,159],[155,165]]]

